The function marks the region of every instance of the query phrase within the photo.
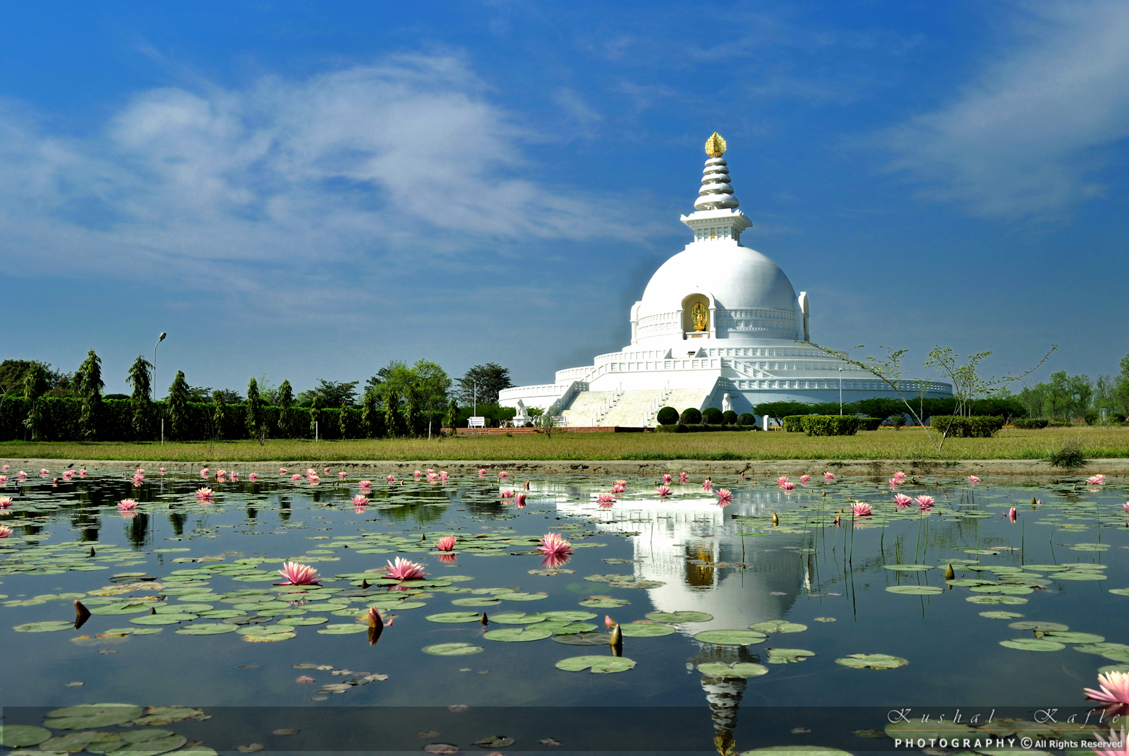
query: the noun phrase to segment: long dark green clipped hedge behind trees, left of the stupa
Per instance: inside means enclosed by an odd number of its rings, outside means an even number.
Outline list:
[[[37,419],[28,425],[33,402],[23,397],[2,397],[0,401],[0,441],[82,441],[82,400],[75,398],[43,397],[35,400]],[[367,438],[386,435],[385,415],[378,409],[370,417],[369,427],[362,422],[359,407],[313,410],[309,407],[260,407],[260,428],[268,438],[313,438],[314,415],[321,438]],[[189,402],[185,427],[174,427],[165,402],[143,406],[139,428],[134,427],[133,403],[124,399],[105,399],[95,418],[96,441],[157,441],[160,420],[165,418],[165,437],[177,441],[237,440],[252,437],[247,429],[247,406],[225,405],[217,419],[216,405]],[[443,426],[440,412],[420,412],[413,435],[426,435],[428,420],[432,432]]]

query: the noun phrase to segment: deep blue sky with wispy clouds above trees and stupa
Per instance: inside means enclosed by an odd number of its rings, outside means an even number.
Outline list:
[[[1100,0],[9,3],[0,356],[550,382],[629,341],[717,130],[816,341],[1115,373],[1127,38]]]

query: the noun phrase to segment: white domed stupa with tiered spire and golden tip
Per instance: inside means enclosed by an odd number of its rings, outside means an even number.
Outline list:
[[[768,401],[896,397],[883,381],[812,347],[811,306],[776,262],[742,245],[738,207],[716,132],[694,211],[694,240],[651,276],[631,307],[631,344],[553,383],[506,389],[502,406],[539,407],[571,426],[650,427],[663,407],[751,412]],[[902,381],[903,393],[952,396],[947,383]]]

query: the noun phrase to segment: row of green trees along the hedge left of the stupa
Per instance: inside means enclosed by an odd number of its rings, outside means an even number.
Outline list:
[[[61,437],[60,432],[46,433],[45,402],[55,399],[81,402],[79,429],[76,434],[69,428],[67,435],[90,441],[98,438],[98,418],[104,414],[105,399],[114,401],[117,414],[117,403],[129,401],[132,437],[137,440],[155,437],[161,419],[168,422],[167,429],[174,438],[199,438],[202,434],[211,438],[230,437],[229,415],[239,416],[239,425],[244,427],[238,435],[245,432],[253,438],[278,434],[303,436],[306,424],[309,435],[320,432],[330,437],[403,437],[465,423],[470,411],[460,408],[460,400],[470,405],[476,399],[485,410],[497,405],[499,391],[513,385],[508,368],[496,363],[475,365],[455,382],[457,389],[453,390],[452,380],[436,363],[420,359],[408,366],[393,360],[365,382],[359,397],[359,381],[320,380],[314,388],[295,396],[289,381],[275,386],[265,376],[251,379],[244,397],[229,389],[191,386],[184,372],[178,371],[167,399],[154,402],[152,370],[143,356],[138,356],[125,379],[132,392],[104,394],[102,360],[93,349],[79,370],[70,374],[43,363],[8,359],[0,364],[0,411],[5,401],[10,402],[15,397],[25,400],[21,403],[27,406],[27,417],[23,424],[33,440],[45,435]],[[202,424],[203,403],[210,405],[210,409]],[[299,409],[300,412],[290,411]],[[207,431],[202,429],[204,425]]]

